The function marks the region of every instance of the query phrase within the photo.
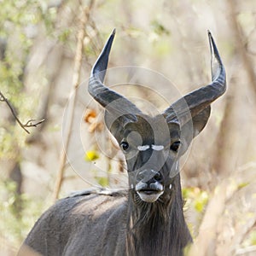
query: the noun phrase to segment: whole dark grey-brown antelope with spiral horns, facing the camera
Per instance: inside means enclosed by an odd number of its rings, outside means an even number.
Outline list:
[[[20,255],[179,256],[192,242],[178,161],[226,90],[218,49],[208,32],[212,82],[149,116],[103,84],[114,35],[92,68],[88,90],[105,108],[105,123],[125,155],[129,189],[92,189],[57,201],[38,219]]]

